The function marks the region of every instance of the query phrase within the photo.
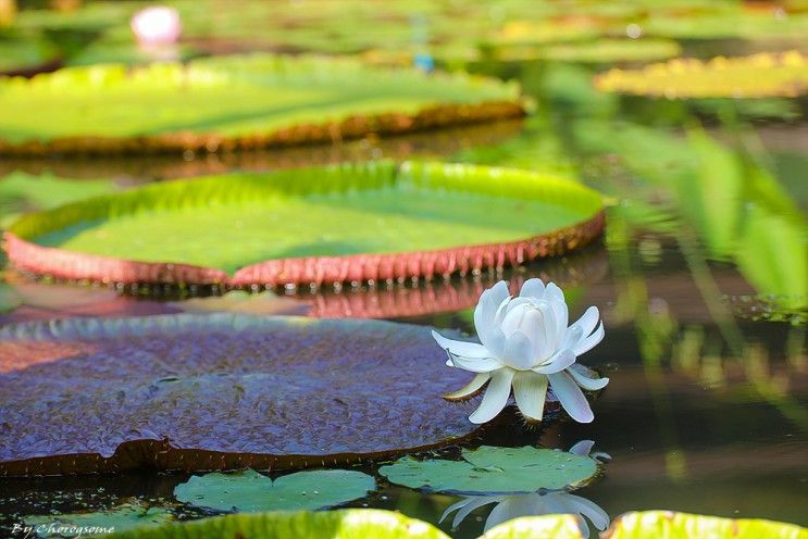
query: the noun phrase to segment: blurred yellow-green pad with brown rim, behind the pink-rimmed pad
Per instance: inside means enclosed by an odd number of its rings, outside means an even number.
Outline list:
[[[519,88],[347,59],[264,54],[0,80],[0,153],[215,151],[523,114]]]

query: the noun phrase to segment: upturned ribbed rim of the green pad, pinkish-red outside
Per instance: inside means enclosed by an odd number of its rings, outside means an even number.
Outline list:
[[[314,168],[307,170],[309,173]],[[154,197],[161,186],[174,188],[177,183],[164,183],[134,189],[121,195],[96,197],[48,212],[23,216],[4,233],[4,248],[9,260],[23,273],[54,278],[100,281],[105,284],[169,284],[211,285],[226,288],[249,286],[276,287],[284,285],[322,286],[341,283],[394,281],[408,278],[448,277],[485,268],[502,268],[531,260],[564,254],[586,246],[599,237],[605,228],[606,214],[600,197],[572,180],[548,178],[540,174],[473,165],[405,162],[365,163],[316,168],[318,172],[338,174],[391,174],[393,181],[402,175],[426,177],[431,188],[500,197],[551,200],[568,204],[581,212],[581,221],[548,233],[515,241],[484,245],[460,245],[436,250],[394,253],[360,253],[331,256],[302,256],[268,260],[247,265],[228,275],[226,272],[199,265],[171,262],[141,262],[122,260],[43,247],[36,236],[54,228],[79,223],[89,213],[98,218],[119,200],[137,201],[142,193]],[[373,172],[369,172],[373,171]],[[382,172],[377,172],[382,171]],[[288,181],[300,171],[281,171],[266,177]],[[458,181],[458,177],[461,179]],[[283,179],[285,178],[285,179]],[[300,179],[310,179],[302,176]],[[364,176],[363,176],[364,178]],[[185,181],[188,190],[214,181],[232,183],[232,178],[211,177]],[[196,183],[196,184],[195,184]],[[176,189],[175,189],[176,190]],[[512,193],[511,193],[512,192]],[[55,216],[49,223],[49,216]]]

